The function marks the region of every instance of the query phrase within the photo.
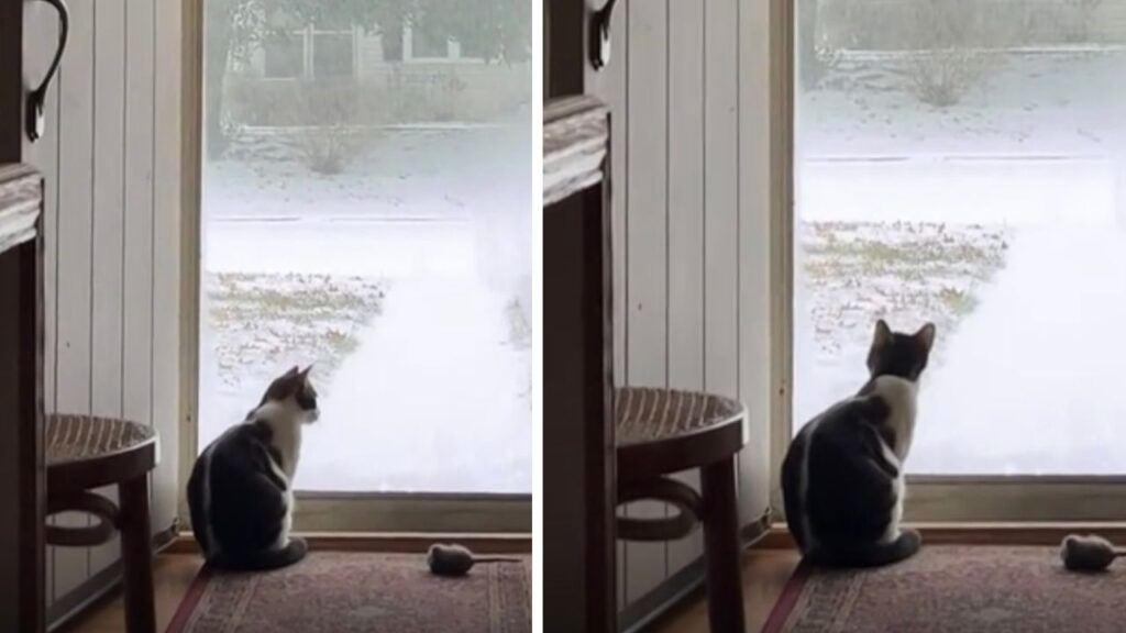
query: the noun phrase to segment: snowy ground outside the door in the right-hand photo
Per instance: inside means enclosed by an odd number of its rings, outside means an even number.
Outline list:
[[[910,470],[1126,472],[1126,54],[1004,56],[946,109],[896,66],[799,99],[795,426],[877,316],[933,320]]]

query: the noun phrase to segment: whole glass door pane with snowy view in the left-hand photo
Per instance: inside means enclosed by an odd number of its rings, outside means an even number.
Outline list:
[[[320,10],[364,24],[370,1]],[[275,63],[242,27],[207,53]],[[328,82],[206,65],[199,448],[314,363],[297,488],[528,493],[530,66],[420,64],[474,98],[402,95],[381,30],[356,69],[350,36],[319,34]]]

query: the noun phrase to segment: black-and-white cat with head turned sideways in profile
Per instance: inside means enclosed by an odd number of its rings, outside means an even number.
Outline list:
[[[188,480],[191,531],[208,564],[268,570],[305,558],[291,536],[302,426],[316,421],[316,390],[295,366],[274,380],[245,420],[212,442]]]

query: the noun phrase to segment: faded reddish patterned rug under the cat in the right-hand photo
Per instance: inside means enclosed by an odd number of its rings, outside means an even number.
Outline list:
[[[1117,633],[1126,568],[1065,571],[1054,547],[924,545],[879,570],[811,570],[783,590],[763,633]]]

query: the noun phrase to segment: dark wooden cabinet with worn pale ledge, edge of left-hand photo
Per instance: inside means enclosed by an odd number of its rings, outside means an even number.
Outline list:
[[[46,630],[43,177],[26,158],[27,0],[0,2],[0,619]],[[28,233],[28,221],[33,222]]]

